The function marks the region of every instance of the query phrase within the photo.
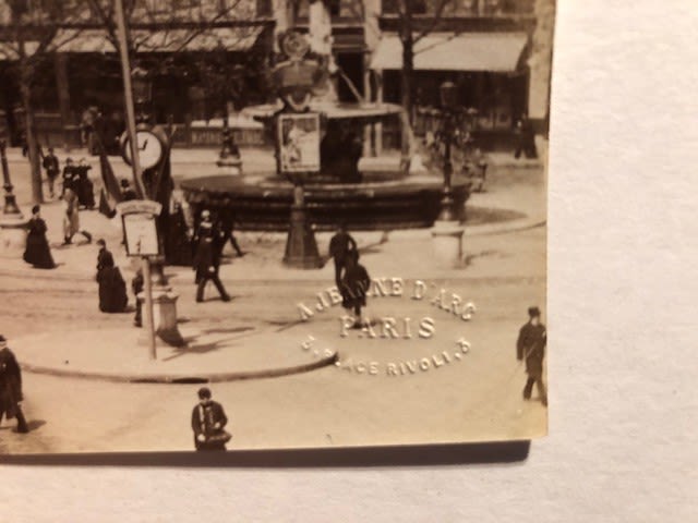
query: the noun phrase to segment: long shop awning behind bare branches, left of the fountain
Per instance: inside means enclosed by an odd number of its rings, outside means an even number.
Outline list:
[[[131,39],[139,52],[246,51],[254,46],[262,31],[262,27],[216,27],[192,35],[189,29],[135,29]],[[101,29],[64,29],[53,41],[60,52],[116,52],[106,31]]]

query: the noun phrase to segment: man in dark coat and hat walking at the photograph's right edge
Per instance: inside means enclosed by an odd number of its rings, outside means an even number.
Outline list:
[[[545,342],[547,341],[545,326],[541,323],[541,311],[538,307],[529,307],[529,320],[519,330],[516,342],[516,357],[526,361],[526,374],[528,379],[524,388],[524,399],[531,399],[533,384],[538,388],[543,406],[547,406],[547,392],[543,384],[543,357],[545,356]]]

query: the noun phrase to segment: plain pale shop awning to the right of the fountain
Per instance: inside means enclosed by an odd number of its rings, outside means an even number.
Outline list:
[[[518,69],[527,42],[525,33],[433,33],[414,46],[414,69],[510,73]],[[371,69],[402,69],[402,42],[397,35],[383,36]]]

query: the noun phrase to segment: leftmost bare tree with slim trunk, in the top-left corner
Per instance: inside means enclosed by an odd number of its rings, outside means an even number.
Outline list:
[[[24,109],[24,139],[32,170],[32,200],[44,200],[41,158],[36,137],[34,88],[39,65],[80,34],[85,21],[80,0],[8,0],[0,7],[0,54],[13,62]],[[73,26],[72,31],[64,31]]]

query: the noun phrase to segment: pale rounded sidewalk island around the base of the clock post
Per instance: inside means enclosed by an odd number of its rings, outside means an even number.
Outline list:
[[[105,381],[186,384],[270,378],[333,365],[337,353],[303,350],[301,333],[285,337],[256,328],[202,330],[181,327],[188,346],[159,342],[157,360],[147,356],[142,329],[39,333],[14,340],[22,368],[36,374]],[[288,335],[288,336],[287,336]],[[298,344],[291,346],[292,340]],[[98,345],[93,343],[99,340]],[[281,341],[285,340],[286,343]]]

